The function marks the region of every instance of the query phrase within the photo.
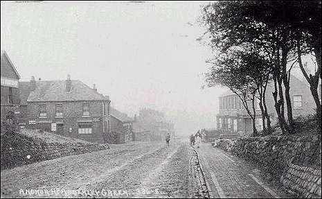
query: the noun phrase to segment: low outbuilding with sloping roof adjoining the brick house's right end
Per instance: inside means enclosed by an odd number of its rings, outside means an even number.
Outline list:
[[[110,144],[122,144],[132,140],[132,123],[127,114],[119,112],[114,107],[111,107],[111,134],[109,136]]]

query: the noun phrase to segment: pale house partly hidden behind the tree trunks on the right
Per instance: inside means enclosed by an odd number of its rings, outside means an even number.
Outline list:
[[[291,89],[289,95],[292,100],[293,116],[307,115],[315,112],[315,103],[310,92],[310,85],[291,75]],[[266,104],[271,123],[278,123],[278,116],[274,107],[274,84],[267,86]],[[320,91],[321,92],[321,91]],[[217,129],[226,132],[238,132],[240,135],[251,134],[253,125],[240,98],[230,90],[220,96],[220,113],[217,114]],[[251,107],[251,104],[249,104]],[[285,104],[285,118],[287,109]],[[262,130],[262,116],[256,100],[256,128]]]

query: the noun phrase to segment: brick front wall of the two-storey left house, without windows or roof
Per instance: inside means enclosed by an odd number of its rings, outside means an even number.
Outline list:
[[[102,101],[86,101],[89,103],[89,116],[82,116],[82,105],[84,102],[32,102],[27,105],[27,118],[28,121],[36,121],[35,125],[29,125],[28,128],[43,129],[51,132],[51,123],[64,123],[64,128],[62,131],[56,130],[55,133],[64,135],[66,137],[73,137],[78,139],[83,139],[86,141],[105,143],[107,134],[109,132],[104,132],[104,121],[108,124],[109,116],[103,115],[103,105]],[[39,105],[46,104],[47,116],[46,118],[39,118]],[[63,116],[55,116],[55,105],[62,104]],[[91,134],[79,134],[78,133],[78,122],[80,121],[91,121],[92,130]],[[69,132],[71,128],[71,132]]]

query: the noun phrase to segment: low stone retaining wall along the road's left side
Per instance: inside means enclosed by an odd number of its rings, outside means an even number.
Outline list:
[[[46,143],[26,135],[1,134],[1,170],[108,148],[107,144]]]

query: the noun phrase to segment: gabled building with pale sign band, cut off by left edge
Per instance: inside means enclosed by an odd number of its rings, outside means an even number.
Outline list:
[[[19,73],[6,51],[1,51],[1,121],[9,111],[19,110]]]

